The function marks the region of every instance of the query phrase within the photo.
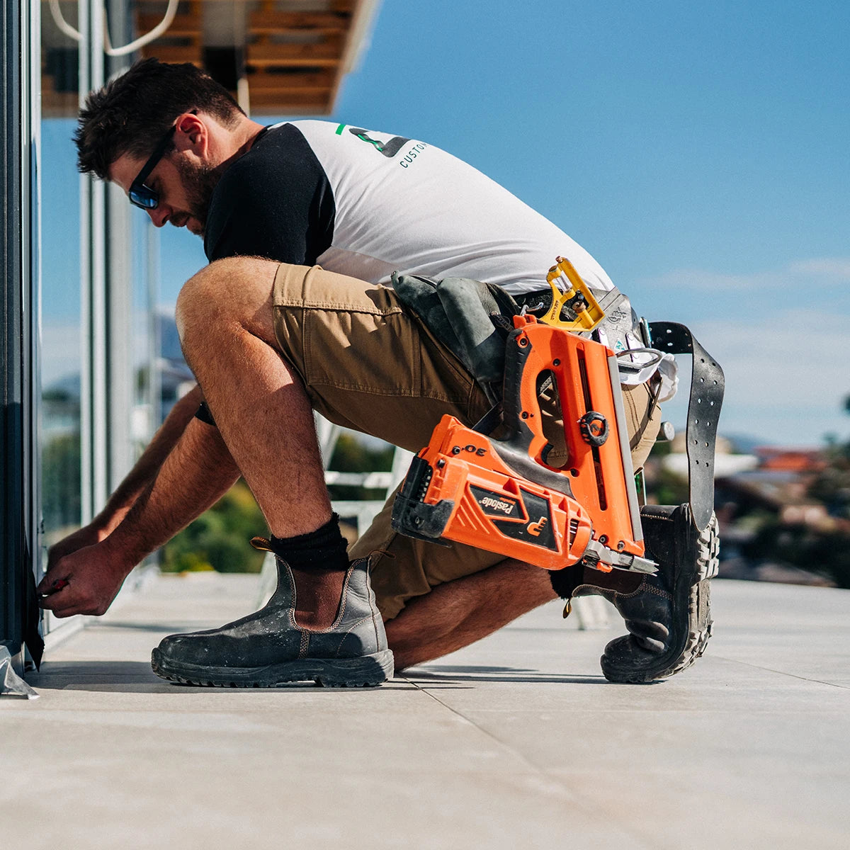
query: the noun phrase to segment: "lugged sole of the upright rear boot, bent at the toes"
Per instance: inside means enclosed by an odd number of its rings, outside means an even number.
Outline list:
[[[689,518],[688,518],[688,521]],[[717,575],[720,551],[720,536],[717,517],[712,513],[711,522],[697,537],[696,552],[689,563],[677,564],[674,595],[679,602],[687,599],[688,628],[662,656],[655,666],[643,668],[622,667],[612,664],[603,655],[600,659],[602,672],[609,682],[640,684],[653,682],[682,672],[691,666],[706,651],[711,638],[711,587],[709,579]],[[623,638],[618,638],[623,639]]]

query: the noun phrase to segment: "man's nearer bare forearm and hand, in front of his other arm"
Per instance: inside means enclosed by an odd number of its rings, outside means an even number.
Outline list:
[[[148,487],[122,508],[112,533],[54,560],[38,586],[48,594],[42,608],[59,617],[105,614],[130,570],[218,501],[238,476],[218,428],[190,417]]]

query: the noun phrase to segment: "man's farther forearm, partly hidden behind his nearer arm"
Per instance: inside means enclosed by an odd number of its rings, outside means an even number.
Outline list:
[[[198,406],[201,404],[201,388],[195,386],[189,393],[185,394],[173,406],[156,431],[150,444],[145,448],[142,456],[136,462],[133,469],[127,473],[117,490],[110,496],[104,509],[88,524],[73,534],[63,538],[55,546],[50,547],[48,554],[48,571],[54,566],[59,558],[64,558],[77,549],[93,546],[95,543],[105,540],[121,523],[127,515],[127,511],[133,507],[133,503],[139,495],[150,487],[156,472],[165,461],[178,439],[182,436],[186,425],[195,416]]]

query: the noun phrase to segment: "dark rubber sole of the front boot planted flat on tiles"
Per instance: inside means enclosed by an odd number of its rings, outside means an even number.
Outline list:
[[[361,658],[320,658],[286,661],[266,667],[211,667],[176,663],[159,649],[150,666],[169,682],[212,688],[277,688],[291,682],[314,682],[325,688],[375,688],[393,677],[389,649]]]

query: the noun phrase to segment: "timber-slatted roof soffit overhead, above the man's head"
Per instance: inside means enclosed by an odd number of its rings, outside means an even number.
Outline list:
[[[191,62],[260,115],[329,115],[368,44],[379,0],[178,0],[167,30],[140,55]],[[59,0],[73,27],[77,3]],[[156,27],[167,0],[132,0],[134,37]],[[42,0],[42,111],[77,113],[77,46]],[[115,24],[115,22],[113,22]],[[117,30],[117,25],[115,26]]]

